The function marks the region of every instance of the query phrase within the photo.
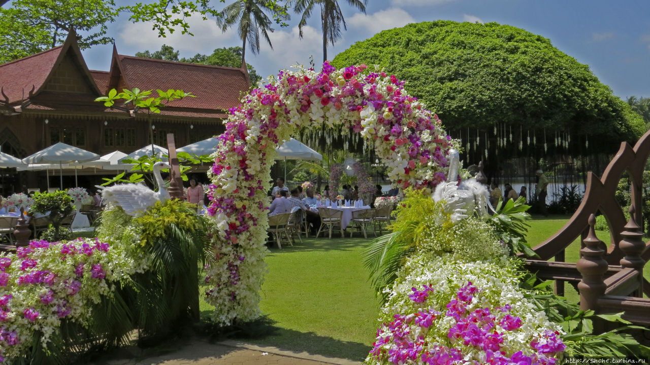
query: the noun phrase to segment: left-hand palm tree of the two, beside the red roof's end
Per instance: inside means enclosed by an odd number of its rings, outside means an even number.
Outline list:
[[[268,38],[268,32],[273,32],[271,28],[271,19],[268,18],[265,11],[274,12],[274,8],[265,0],[238,0],[228,5],[222,10],[216,18],[216,25],[221,27],[222,31],[237,25],[237,32],[242,40],[242,64],[244,64],[244,55],[246,54],[246,41],[253,55],[259,52],[259,38],[262,36],[268,45],[273,49],[271,40]]]

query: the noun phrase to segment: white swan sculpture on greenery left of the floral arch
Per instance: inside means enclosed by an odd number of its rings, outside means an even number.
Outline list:
[[[144,184],[118,184],[114,186],[97,186],[101,190],[101,197],[107,203],[122,207],[129,216],[138,216],[153,207],[156,201],[167,201],[170,199],[164,180],[161,177],[161,170],[171,168],[166,162],[153,164],[153,177],[158,184],[158,192],[154,192]]]

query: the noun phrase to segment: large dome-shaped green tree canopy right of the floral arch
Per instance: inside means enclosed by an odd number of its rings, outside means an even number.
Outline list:
[[[641,118],[587,65],[547,38],[509,25],[409,24],[357,42],[332,64],[378,64],[407,81],[406,90],[452,131],[491,131],[497,124],[570,131],[589,135],[599,148],[645,132]]]

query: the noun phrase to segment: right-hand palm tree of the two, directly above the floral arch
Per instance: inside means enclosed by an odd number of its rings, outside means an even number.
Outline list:
[[[354,6],[359,11],[365,14],[365,6],[368,0],[346,0],[348,5]],[[294,0],[293,10],[300,14],[302,18],[298,23],[298,31],[300,38],[302,38],[302,27],[307,25],[307,19],[311,16],[311,12],[315,6],[320,5],[320,27],[323,31],[323,63],[327,60],[327,46],[333,45],[334,42],[341,39],[341,24],[346,31],[348,28],[345,25],[343,12],[339,7],[337,0]]]

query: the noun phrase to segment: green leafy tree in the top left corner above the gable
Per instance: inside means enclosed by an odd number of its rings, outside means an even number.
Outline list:
[[[107,23],[117,16],[112,0],[15,0],[0,8],[0,62],[8,62],[61,44],[75,29],[79,47],[109,44]]]

